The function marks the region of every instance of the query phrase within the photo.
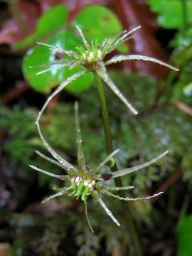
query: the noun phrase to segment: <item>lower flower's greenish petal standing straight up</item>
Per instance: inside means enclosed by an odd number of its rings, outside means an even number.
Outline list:
[[[76,126],[76,136],[77,136],[77,145],[78,145],[78,166],[80,170],[85,171],[85,158],[82,150],[82,138],[81,138],[81,131],[80,131],[78,102],[75,102],[75,126]]]

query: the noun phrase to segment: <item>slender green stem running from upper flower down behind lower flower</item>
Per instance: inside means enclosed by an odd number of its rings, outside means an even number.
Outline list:
[[[100,99],[100,107],[102,110],[102,119],[103,119],[103,124],[104,124],[104,131],[105,131],[105,142],[106,142],[106,149],[107,149],[107,154],[111,154],[113,151],[113,145],[112,145],[112,135],[111,135],[111,129],[110,129],[110,122],[109,122],[109,117],[108,117],[108,112],[107,112],[107,104],[106,104],[106,98],[105,98],[105,92],[103,90],[102,86],[102,80],[100,76],[95,72],[95,82],[97,85],[97,91]],[[112,171],[117,171],[117,165],[114,164],[112,167]],[[116,186],[122,186],[122,180],[121,178],[115,178],[114,180]],[[118,191],[119,196],[125,197],[126,194],[124,191]],[[129,203],[121,202],[122,203],[122,208],[124,210],[124,214],[126,215],[126,220],[127,220],[127,225],[129,228],[129,234],[131,241],[134,244],[134,252],[135,256],[142,256],[142,246],[139,240],[139,236],[137,234],[137,230],[134,225],[134,219],[132,216],[132,212],[129,206]]]

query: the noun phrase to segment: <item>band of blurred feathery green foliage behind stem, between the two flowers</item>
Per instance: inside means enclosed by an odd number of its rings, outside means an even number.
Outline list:
[[[182,158],[181,166],[185,170],[184,178],[192,181],[190,154],[192,125],[190,117],[176,109],[174,105],[155,105],[156,87],[161,87],[161,85],[157,85],[149,78],[142,75],[124,75],[118,72],[111,73],[111,77],[115,82],[118,81],[121,90],[125,92],[131,102],[134,102],[141,113],[137,118],[127,117],[124,105],[119,105],[119,100],[110,90],[107,90],[108,105],[112,106],[109,110],[112,135],[115,148],[120,149],[117,156],[119,167],[141,164],[141,162],[153,159],[166,149],[170,150],[164,161],[159,161],[155,166],[149,166],[147,171],[138,171],[137,174],[132,174],[134,177],[133,180],[131,179],[132,183],[137,187],[135,192],[139,194],[139,191],[143,191],[146,186],[151,186],[153,181],[159,181],[159,168],[161,176],[166,175],[166,170],[174,171],[175,158],[179,157]],[[105,136],[98,111],[99,103],[95,101],[97,91],[95,88],[90,88],[86,94],[82,92],[78,97],[80,98],[80,112],[82,113],[80,119],[85,160],[92,166],[97,162],[97,159],[104,159],[106,156]],[[63,157],[68,161],[72,161],[75,157],[73,112],[73,104],[66,102],[65,104],[58,104],[43,116],[43,122],[48,122],[48,125],[43,126],[43,134],[45,134],[49,144],[60,154],[65,152]],[[3,149],[11,154],[11,159],[20,161],[22,166],[28,166],[28,164],[39,166],[38,161],[40,159],[38,156],[36,162],[32,160],[33,152],[38,149],[46,154],[46,150],[38,139],[36,127],[33,124],[36,114],[32,111],[23,112],[16,109],[11,112],[3,110],[1,116],[3,118],[1,128],[8,129],[11,135],[11,140],[6,142]],[[22,146],[18,146],[18,144]],[[184,155],[183,151],[185,151]],[[50,164],[47,161],[42,161],[39,167],[51,170]],[[56,166],[55,169],[58,170]],[[45,178],[41,174],[39,176]],[[50,182],[51,179],[46,178],[46,180]],[[131,180],[124,177],[124,186],[132,185]]]

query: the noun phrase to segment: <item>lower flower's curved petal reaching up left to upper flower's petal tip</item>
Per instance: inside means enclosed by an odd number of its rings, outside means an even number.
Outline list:
[[[60,162],[60,164],[62,164],[63,169],[65,169],[65,171],[74,170],[75,172],[77,172],[77,170],[75,169],[75,167],[72,164],[68,163],[68,161],[63,159],[63,157],[61,157],[54,149],[51,148],[51,146],[49,146],[49,144],[46,142],[46,139],[44,139],[43,134],[41,133],[39,124],[37,123],[36,125],[37,125],[37,129],[38,129],[38,134],[41,137],[41,140],[42,140],[44,146],[46,146],[46,149],[48,149],[48,151],[50,152],[50,154],[52,154],[54,159],[58,160]]]

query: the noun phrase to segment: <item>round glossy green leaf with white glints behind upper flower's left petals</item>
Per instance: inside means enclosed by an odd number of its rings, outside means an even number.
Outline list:
[[[63,49],[74,50],[75,46],[82,46],[82,41],[78,36],[75,36],[68,30],[60,31],[51,38],[45,41],[53,46],[58,46]],[[66,57],[65,57],[66,58]],[[60,68],[52,69],[41,75],[36,75],[41,70],[45,70],[50,67],[50,63],[57,60],[57,56],[53,50],[49,50],[46,46],[35,46],[28,50],[26,57],[23,60],[23,74],[33,87],[33,89],[38,92],[50,92],[50,90],[56,85],[60,85],[65,79],[70,75],[78,73],[80,70],[85,70],[85,68]],[[40,64],[48,64],[45,67],[38,67]],[[35,66],[36,68],[30,68],[30,66]],[[79,92],[85,90],[92,83],[92,74],[88,73],[82,78],[78,78],[75,82],[68,85],[67,90],[72,92]]]

